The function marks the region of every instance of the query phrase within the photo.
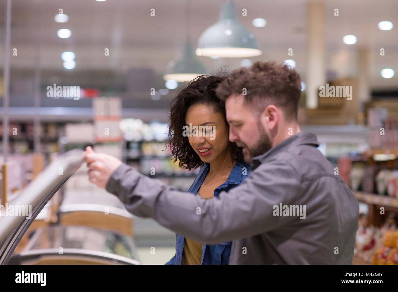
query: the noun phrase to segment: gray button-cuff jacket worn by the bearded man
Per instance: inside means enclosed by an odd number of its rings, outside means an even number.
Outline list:
[[[211,200],[124,163],[106,190],[134,215],[197,242],[233,240],[229,264],[351,264],[359,204],[317,146],[312,133],[289,137],[254,157],[241,185]]]

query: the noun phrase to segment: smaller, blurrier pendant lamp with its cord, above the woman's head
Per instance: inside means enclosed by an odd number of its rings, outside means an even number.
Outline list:
[[[166,74],[163,75],[164,80],[176,80],[177,82],[186,82],[191,81],[195,77],[199,75],[203,75],[206,73],[206,68],[195,59],[195,55],[193,54],[193,46],[190,37],[188,35],[189,29],[189,12],[190,8],[188,5],[188,1],[185,2],[185,35],[187,41],[185,42],[185,46],[183,49],[182,58],[176,62],[169,62],[168,68],[166,70]]]

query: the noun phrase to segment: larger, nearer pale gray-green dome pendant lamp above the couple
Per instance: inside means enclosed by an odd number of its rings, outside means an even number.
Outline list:
[[[244,28],[236,14],[235,4],[222,4],[219,21],[199,37],[197,55],[243,58],[261,55],[254,35]]]

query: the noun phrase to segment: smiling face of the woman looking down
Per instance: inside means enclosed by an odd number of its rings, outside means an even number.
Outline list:
[[[191,125],[190,125],[191,124]],[[213,106],[194,104],[185,115],[189,144],[203,162],[213,162],[228,153],[228,128]],[[191,126],[191,128],[189,128]],[[201,127],[202,126],[202,127]]]

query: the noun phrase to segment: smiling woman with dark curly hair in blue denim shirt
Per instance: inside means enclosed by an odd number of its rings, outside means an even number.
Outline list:
[[[204,199],[241,184],[250,171],[242,149],[228,140],[224,102],[215,94],[222,80],[199,76],[170,104],[168,147],[180,166],[189,170],[200,166],[188,192]],[[206,245],[176,234],[176,254],[166,265],[227,265],[231,243]]]

